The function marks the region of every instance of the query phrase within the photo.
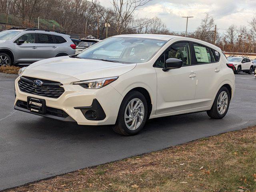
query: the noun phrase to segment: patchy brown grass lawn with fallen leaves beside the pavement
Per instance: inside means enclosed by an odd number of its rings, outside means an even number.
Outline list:
[[[256,192],[256,126],[8,191]]]

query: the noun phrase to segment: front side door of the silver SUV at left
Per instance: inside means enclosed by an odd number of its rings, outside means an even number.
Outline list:
[[[23,44],[19,44],[19,40],[24,40]],[[37,60],[36,34],[22,34],[14,41],[15,60],[17,63],[30,64]]]

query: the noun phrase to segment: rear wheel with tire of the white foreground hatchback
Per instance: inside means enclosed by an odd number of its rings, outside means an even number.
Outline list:
[[[218,91],[212,108],[207,111],[210,118],[222,119],[226,116],[230,103],[230,94],[226,87],[220,88]]]

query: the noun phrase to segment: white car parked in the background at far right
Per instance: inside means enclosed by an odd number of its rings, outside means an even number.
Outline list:
[[[235,73],[240,74],[241,72],[246,72],[248,74],[253,73],[253,63],[248,57],[228,57],[228,62],[234,64]]]

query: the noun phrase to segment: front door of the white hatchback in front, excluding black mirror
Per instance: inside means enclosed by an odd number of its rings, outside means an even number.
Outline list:
[[[168,58],[178,58],[183,66],[164,72]],[[196,66],[191,65],[189,42],[177,42],[170,46],[154,64],[157,74],[156,114],[188,110],[194,104],[196,92]]]

